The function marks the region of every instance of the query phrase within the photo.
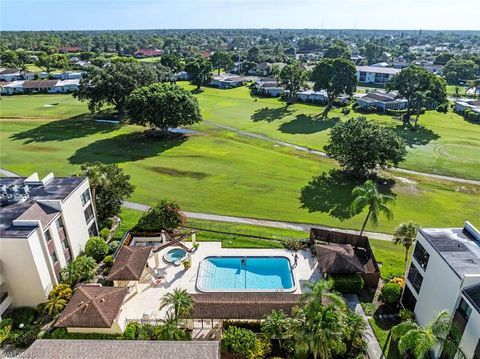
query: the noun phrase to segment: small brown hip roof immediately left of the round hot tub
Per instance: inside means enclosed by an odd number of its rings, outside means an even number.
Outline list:
[[[108,280],[139,280],[152,247],[123,246],[118,253]]]

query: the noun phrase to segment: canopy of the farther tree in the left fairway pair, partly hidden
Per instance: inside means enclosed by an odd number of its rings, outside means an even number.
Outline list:
[[[88,101],[92,113],[110,104],[123,115],[126,99],[133,90],[168,81],[171,77],[171,71],[162,65],[116,62],[102,68],[92,67],[80,80],[80,88],[74,96],[80,101]]]

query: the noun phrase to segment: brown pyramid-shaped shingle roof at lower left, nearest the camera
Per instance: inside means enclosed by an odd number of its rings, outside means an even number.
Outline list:
[[[82,285],[55,322],[55,327],[110,328],[128,288]]]

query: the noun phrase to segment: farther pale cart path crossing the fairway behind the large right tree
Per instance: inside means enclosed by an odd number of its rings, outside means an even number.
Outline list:
[[[203,121],[203,122],[208,123],[209,125],[212,125],[212,126],[215,126],[215,127],[218,127],[218,128],[223,128],[224,130],[228,130],[228,131],[238,133],[242,136],[257,138],[257,139],[272,142],[272,143],[275,143],[275,144],[278,144],[278,145],[281,145],[281,146],[290,147],[290,148],[293,148],[297,151],[307,152],[307,153],[311,153],[311,154],[316,155],[316,156],[328,158],[328,155],[325,152],[322,152],[322,151],[314,150],[314,149],[304,147],[304,146],[295,145],[293,143],[289,143],[289,142],[285,142],[285,141],[275,140],[275,139],[273,139],[271,137],[268,137],[268,136],[265,136],[265,135],[261,135],[261,134],[253,133],[253,132],[249,132],[249,131],[239,130],[238,128],[228,126],[228,125],[219,124],[219,123],[216,123],[216,122],[211,122],[211,121]],[[453,176],[437,175],[437,174],[434,174],[434,173],[417,172],[417,171],[407,170],[407,169],[398,168],[398,167],[390,168],[389,170],[390,171],[395,171],[395,172],[407,173],[407,174],[416,175],[416,176],[438,179],[438,180],[445,180],[445,181],[464,183],[464,184],[473,184],[473,185],[480,186],[480,180],[472,180],[472,179],[459,178],[459,177],[453,177]]]

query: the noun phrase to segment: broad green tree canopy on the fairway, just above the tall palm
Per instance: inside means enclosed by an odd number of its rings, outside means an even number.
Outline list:
[[[397,166],[407,155],[403,139],[365,117],[335,125],[325,151],[356,177],[364,177],[377,167]]]

